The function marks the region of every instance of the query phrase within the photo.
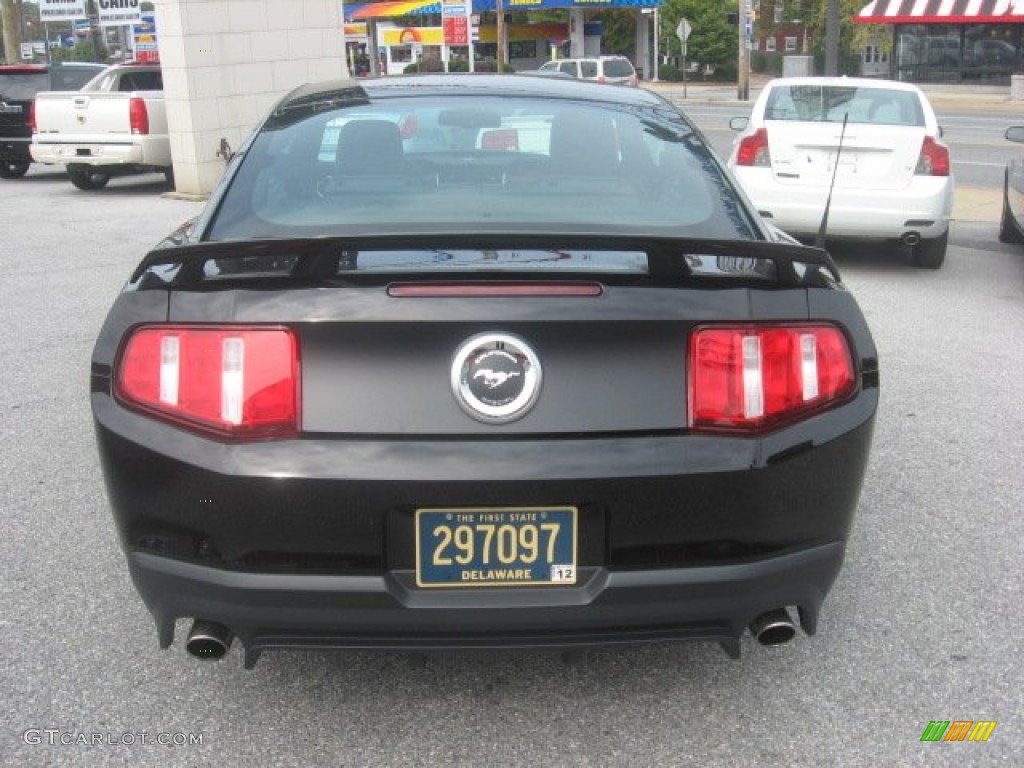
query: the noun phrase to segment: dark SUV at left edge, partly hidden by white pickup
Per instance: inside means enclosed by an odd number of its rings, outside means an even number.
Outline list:
[[[105,69],[79,61],[0,67],[0,178],[19,178],[29,172],[30,114],[36,94],[77,91]]]

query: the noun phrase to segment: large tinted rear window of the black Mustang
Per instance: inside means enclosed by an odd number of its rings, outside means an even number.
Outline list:
[[[279,113],[205,239],[403,232],[759,237],[666,106],[389,97]]]

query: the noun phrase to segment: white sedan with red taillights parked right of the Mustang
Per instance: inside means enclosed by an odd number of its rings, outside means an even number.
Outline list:
[[[780,78],[765,86],[729,168],[761,215],[800,239],[894,240],[919,266],[946,255],[949,150],[916,86],[859,78]]]

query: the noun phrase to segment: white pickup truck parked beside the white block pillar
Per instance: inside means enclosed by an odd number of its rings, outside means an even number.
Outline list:
[[[80,91],[36,96],[32,158],[62,164],[79,189],[158,171],[174,183],[163,81],[156,65],[117,65]]]

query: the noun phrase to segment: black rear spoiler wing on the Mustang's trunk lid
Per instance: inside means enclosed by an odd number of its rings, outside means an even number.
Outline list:
[[[151,251],[135,268],[131,283],[137,288],[172,288],[187,290],[209,284],[213,278],[274,278],[298,283],[324,283],[339,279],[373,278],[381,272],[360,271],[360,252],[374,251],[483,251],[509,253],[531,250],[538,252],[643,252],[647,269],[641,276],[656,283],[672,285],[688,278],[752,278],[767,280],[782,286],[831,287],[841,282],[831,256],[820,248],[772,243],[767,241],[703,240],[688,238],[657,238],[630,234],[373,234],[337,238],[306,238],[259,241],[207,242],[194,245],[159,248]],[[217,269],[211,274],[208,265]],[[424,271],[411,270],[422,279]],[[495,269],[504,274],[507,270]],[[479,279],[480,269],[464,271],[437,269],[438,275],[451,280],[464,274]],[[579,276],[602,274],[594,271],[572,271]],[[622,274],[614,270],[606,272]],[[155,283],[143,281],[153,275]],[[524,270],[517,269],[522,276]],[[558,269],[538,269],[529,272],[539,279],[564,281],[567,272]],[[388,270],[388,278],[397,278],[397,270]],[[628,275],[636,278],[638,275]]]

